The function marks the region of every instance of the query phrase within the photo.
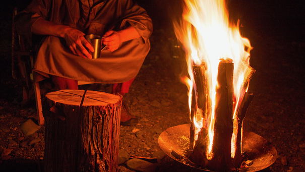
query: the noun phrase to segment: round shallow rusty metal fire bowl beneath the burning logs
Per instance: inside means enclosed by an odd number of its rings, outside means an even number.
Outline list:
[[[184,157],[184,153],[189,149],[190,145],[190,124],[171,127],[159,136],[158,143],[160,148],[172,159],[181,162],[171,154],[172,151]],[[272,165],[277,157],[277,151],[270,142],[265,138],[252,133],[243,131],[242,150],[249,155],[248,159],[253,161],[253,164],[248,168],[241,168],[241,171],[259,171]],[[184,164],[184,163],[183,163]],[[190,165],[188,165],[190,166]],[[190,166],[196,168],[194,166]],[[203,171],[211,171],[208,169]]]

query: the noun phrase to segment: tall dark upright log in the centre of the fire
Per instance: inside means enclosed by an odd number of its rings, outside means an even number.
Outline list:
[[[224,61],[219,63],[212,147],[214,157],[207,164],[208,169],[215,171],[227,171],[233,166],[231,160],[233,70],[233,63]]]

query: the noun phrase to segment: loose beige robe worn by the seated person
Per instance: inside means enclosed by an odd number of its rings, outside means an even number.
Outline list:
[[[121,43],[113,52],[101,51],[98,59],[83,59],[72,53],[65,39],[45,36],[38,46],[33,69],[45,77],[50,74],[95,83],[126,82],[136,77],[150,49],[151,19],[132,0],[34,0],[15,18],[19,34],[29,43],[31,27],[40,18],[68,25],[86,35],[103,35],[128,26],[141,35]]]

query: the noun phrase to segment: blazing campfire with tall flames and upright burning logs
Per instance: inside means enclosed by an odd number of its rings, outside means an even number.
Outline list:
[[[229,22],[224,0],[185,0],[180,21],[174,21],[183,45],[189,88],[189,148],[171,155],[182,163],[215,171],[235,171],[253,163],[243,150],[243,119],[253,94],[250,41]]]

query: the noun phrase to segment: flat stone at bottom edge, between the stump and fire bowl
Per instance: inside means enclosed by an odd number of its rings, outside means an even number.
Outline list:
[[[142,159],[133,158],[127,161],[127,167],[135,171],[154,172],[157,165]]]

